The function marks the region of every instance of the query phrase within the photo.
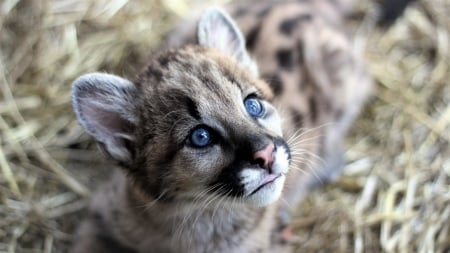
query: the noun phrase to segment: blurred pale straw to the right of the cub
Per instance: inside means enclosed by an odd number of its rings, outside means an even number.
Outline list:
[[[450,2],[419,1],[387,30],[365,1],[357,44],[377,82],[347,172],[311,194],[299,252],[450,251]],[[359,22],[361,24],[361,22]]]

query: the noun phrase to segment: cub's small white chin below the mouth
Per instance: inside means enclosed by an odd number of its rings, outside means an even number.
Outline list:
[[[265,185],[257,192],[245,197],[245,201],[256,207],[265,207],[280,199],[286,176],[281,175],[275,181]]]

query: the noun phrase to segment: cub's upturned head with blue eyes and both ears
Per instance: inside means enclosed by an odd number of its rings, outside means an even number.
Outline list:
[[[271,91],[227,14],[206,11],[197,37],[199,45],[157,57],[135,82],[78,78],[78,120],[152,198],[268,205],[290,161]]]

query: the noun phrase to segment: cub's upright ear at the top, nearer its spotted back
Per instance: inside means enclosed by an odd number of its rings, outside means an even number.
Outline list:
[[[219,8],[207,9],[200,18],[197,38],[201,46],[220,50],[258,75],[256,63],[245,48],[245,39],[231,17]]]

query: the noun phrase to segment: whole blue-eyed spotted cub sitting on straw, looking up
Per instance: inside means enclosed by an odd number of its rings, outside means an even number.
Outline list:
[[[119,169],[71,252],[287,251],[277,233],[290,206],[340,174],[371,86],[340,8],[261,1],[227,12],[177,27],[133,81],[75,81],[78,120]]]

